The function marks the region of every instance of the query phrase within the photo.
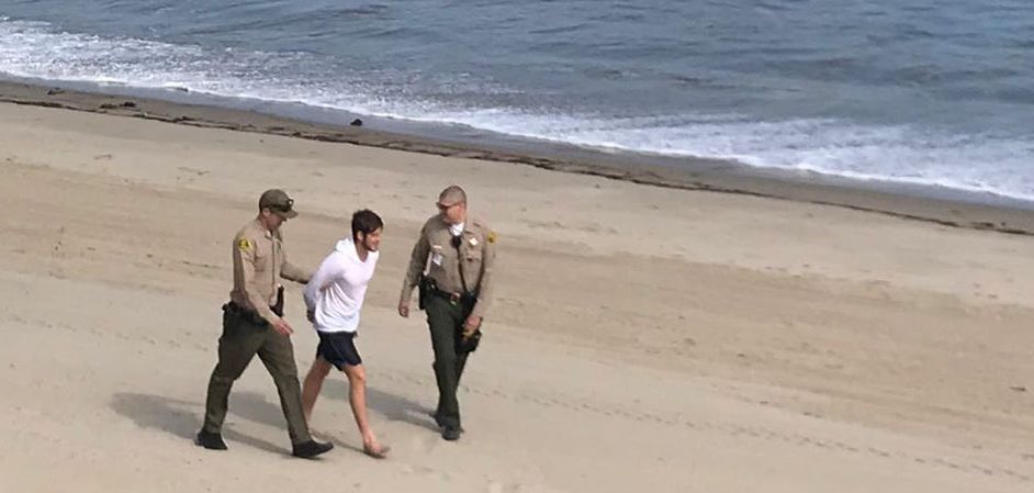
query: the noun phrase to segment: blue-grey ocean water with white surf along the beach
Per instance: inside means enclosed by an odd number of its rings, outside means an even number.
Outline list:
[[[0,0],[0,77],[1034,201],[1031,0]]]

